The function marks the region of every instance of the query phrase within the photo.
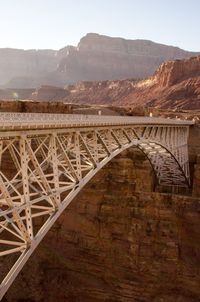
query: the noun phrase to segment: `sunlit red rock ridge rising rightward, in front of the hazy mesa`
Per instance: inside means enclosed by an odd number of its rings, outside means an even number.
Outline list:
[[[66,86],[66,101],[160,109],[200,109],[200,56],[163,63],[137,80],[80,82]]]

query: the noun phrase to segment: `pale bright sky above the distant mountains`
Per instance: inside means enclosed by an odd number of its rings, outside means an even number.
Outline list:
[[[0,0],[0,47],[59,49],[88,32],[200,51],[200,0]]]

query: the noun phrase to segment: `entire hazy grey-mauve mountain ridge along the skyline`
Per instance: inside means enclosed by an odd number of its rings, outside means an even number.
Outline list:
[[[77,47],[56,50],[0,48],[0,87],[64,86],[78,81],[144,78],[168,60],[195,56],[148,40],[126,40],[95,33]]]

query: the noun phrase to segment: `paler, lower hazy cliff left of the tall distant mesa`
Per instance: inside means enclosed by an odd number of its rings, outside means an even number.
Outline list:
[[[41,82],[45,84],[45,77],[50,77],[58,62],[54,50],[1,48],[0,86],[34,88]]]

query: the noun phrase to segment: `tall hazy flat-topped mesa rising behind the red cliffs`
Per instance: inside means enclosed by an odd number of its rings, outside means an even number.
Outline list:
[[[193,53],[194,55],[194,53]],[[192,56],[177,47],[146,40],[87,34],[59,64],[68,81],[143,78],[164,61]]]

